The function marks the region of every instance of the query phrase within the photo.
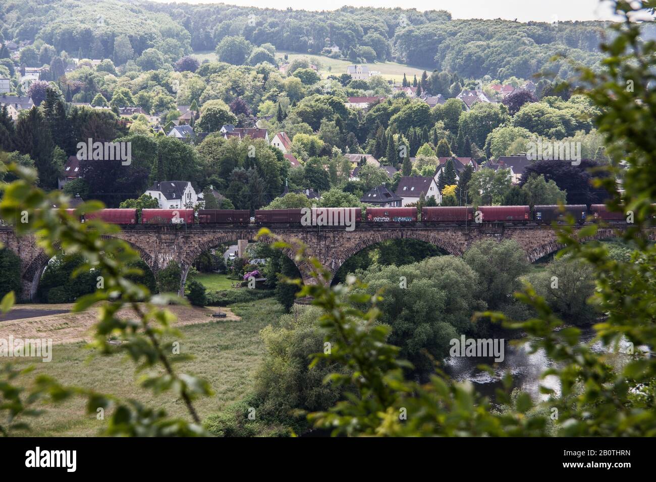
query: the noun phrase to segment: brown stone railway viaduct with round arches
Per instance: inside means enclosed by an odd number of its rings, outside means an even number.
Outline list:
[[[315,256],[333,275],[350,256],[387,239],[417,239],[456,256],[460,256],[472,243],[481,239],[514,239],[526,253],[529,262],[535,262],[561,248],[556,242],[552,227],[538,224],[483,223],[456,226],[419,222],[403,226],[381,226],[361,222],[356,223],[354,231],[346,231],[343,226],[272,225],[268,228],[285,241],[302,241],[308,246],[308,254]],[[617,224],[611,228],[600,229],[594,239],[615,237],[617,230],[624,228],[625,224]],[[165,268],[172,260],[178,262],[183,270],[180,280],[182,287],[192,263],[201,252],[236,239],[255,241],[259,230],[260,226],[254,225],[135,225],[125,226],[123,231],[115,236],[127,241],[138,251],[154,273]],[[656,239],[655,235],[655,231],[649,232],[650,239]],[[37,292],[41,274],[49,262],[49,256],[37,247],[33,237],[17,237],[10,227],[0,228],[0,241],[20,256],[23,298],[32,300]],[[287,255],[293,259],[292,253]],[[308,266],[297,264],[297,267],[305,283],[314,282]]]

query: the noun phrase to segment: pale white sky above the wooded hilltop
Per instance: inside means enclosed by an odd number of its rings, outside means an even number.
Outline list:
[[[155,0],[168,3],[171,0]],[[216,0],[178,0],[186,3],[219,3]],[[556,20],[611,20],[613,12],[607,0],[226,0],[222,3],[243,7],[335,10],[352,7],[403,7],[417,10],[449,10],[453,18],[504,18],[520,22]]]

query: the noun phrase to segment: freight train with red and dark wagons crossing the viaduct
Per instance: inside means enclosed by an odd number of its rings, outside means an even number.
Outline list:
[[[612,212],[603,204],[586,205],[536,205],[530,206],[480,206],[473,207],[422,207],[419,213],[417,207],[367,207],[365,212],[360,208],[313,208],[312,218],[325,216],[338,219],[344,216],[345,210],[350,210],[349,220],[367,224],[472,224],[486,222],[502,222],[505,224],[551,224],[565,222],[573,218],[583,224],[594,220],[619,221],[626,220],[623,212]],[[306,226],[304,217],[308,211],[303,209],[258,209],[255,216],[247,209],[142,209],[141,216],[137,209],[101,209],[88,214],[68,209],[72,216],[79,216],[81,222],[99,218],[110,224],[224,224],[246,226],[249,224],[297,224]],[[313,223],[314,224],[314,223]]]

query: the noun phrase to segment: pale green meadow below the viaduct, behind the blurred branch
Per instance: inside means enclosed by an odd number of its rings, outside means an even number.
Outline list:
[[[209,381],[215,394],[197,399],[194,405],[201,418],[220,411],[226,404],[240,399],[251,388],[253,372],[264,355],[259,331],[276,323],[282,308],[272,299],[230,307],[239,320],[216,321],[186,325],[180,328],[181,353],[194,355],[194,359],[177,363],[176,370],[190,372]],[[153,408],[163,408],[174,416],[188,419],[184,403],[171,393],[153,395],[140,388],[141,374],[123,355],[91,356],[83,342],[55,345],[52,361],[38,363],[34,359],[17,359],[17,367],[35,365],[28,376],[45,373],[59,382],[108,393],[121,399],[136,399]],[[26,383],[26,382],[24,382]],[[33,420],[31,433],[39,436],[96,435],[104,426],[95,415],[85,414],[83,399],[72,399],[58,405],[44,407],[46,412]]]

